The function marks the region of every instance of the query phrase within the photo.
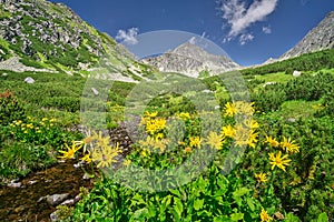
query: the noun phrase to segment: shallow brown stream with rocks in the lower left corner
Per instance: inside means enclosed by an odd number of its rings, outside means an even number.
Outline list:
[[[84,171],[68,160],[47,170],[32,172],[20,180],[20,188],[0,185],[0,221],[51,221],[56,206],[40,198],[69,193],[69,199],[79,194],[80,186],[91,189],[94,181],[84,180]],[[39,201],[39,202],[38,202]]]

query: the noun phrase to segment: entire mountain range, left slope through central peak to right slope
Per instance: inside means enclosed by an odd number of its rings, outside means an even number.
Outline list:
[[[331,68],[332,59],[328,57],[334,48],[333,33],[334,12],[331,12],[296,47],[268,63],[299,56],[307,59],[310,57],[303,54],[327,49],[330,51],[320,56],[313,54],[311,58],[316,59],[316,64],[310,65],[311,69],[323,65]],[[301,63],[297,59],[294,60],[294,65],[291,62],[278,62],[264,64],[265,69],[298,69],[296,61]],[[308,65],[310,62],[306,63]],[[308,69],[307,65],[303,69]],[[100,68],[107,68],[105,71],[109,79],[125,82],[137,82],[158,70],[205,78],[242,69],[228,57],[212,54],[190,41],[161,56],[139,61],[125,47],[107,33],[96,30],[62,3],[46,0],[0,0],[0,70],[85,75]],[[252,69],[243,72],[253,72],[249,71]]]

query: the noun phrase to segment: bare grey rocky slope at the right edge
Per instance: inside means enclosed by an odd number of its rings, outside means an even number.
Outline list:
[[[293,49],[279,59],[298,57],[304,53],[334,48],[334,11],[330,12],[317,27],[312,29]]]

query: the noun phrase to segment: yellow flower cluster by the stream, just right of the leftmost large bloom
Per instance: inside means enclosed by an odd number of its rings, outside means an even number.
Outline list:
[[[100,149],[95,149],[91,152],[91,160],[98,161],[97,168],[108,168],[111,163],[117,162],[115,158],[121,153],[119,150],[119,143],[116,143],[115,148],[101,147]]]

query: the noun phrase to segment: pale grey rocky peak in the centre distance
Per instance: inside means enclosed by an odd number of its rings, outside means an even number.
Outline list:
[[[189,77],[198,77],[208,71],[210,75],[238,69],[239,65],[227,57],[215,56],[189,42],[156,58],[148,58],[145,62],[160,71],[179,72]]]

